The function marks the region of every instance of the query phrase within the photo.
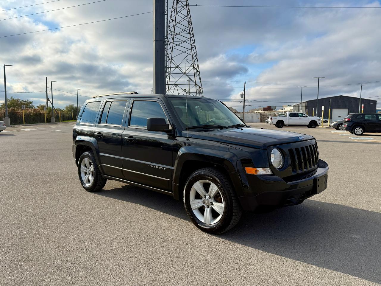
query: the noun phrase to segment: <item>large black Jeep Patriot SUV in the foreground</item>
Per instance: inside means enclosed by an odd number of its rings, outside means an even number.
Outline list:
[[[242,210],[300,204],[327,187],[314,137],[251,128],[204,97],[95,96],[80,111],[72,151],[87,191],[110,179],[168,194],[209,233],[234,227]]]

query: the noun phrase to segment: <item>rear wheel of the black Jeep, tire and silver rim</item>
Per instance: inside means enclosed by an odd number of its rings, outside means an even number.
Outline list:
[[[83,152],[78,160],[78,177],[86,191],[97,192],[102,190],[107,180],[102,177],[93,152]],[[91,177],[93,179],[91,179]]]

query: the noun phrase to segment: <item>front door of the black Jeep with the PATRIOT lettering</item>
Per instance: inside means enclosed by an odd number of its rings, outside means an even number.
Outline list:
[[[123,132],[123,174],[127,181],[171,191],[173,137],[147,130],[147,118],[168,120],[156,99],[135,99]]]

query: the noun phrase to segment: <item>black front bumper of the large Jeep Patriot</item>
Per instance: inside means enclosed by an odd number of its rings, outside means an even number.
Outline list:
[[[303,174],[304,175],[304,174]],[[248,175],[249,186],[255,196],[239,196],[244,210],[255,211],[259,207],[277,208],[300,204],[304,199],[321,193],[327,188],[328,164],[319,160],[319,167],[293,182],[277,176]]]

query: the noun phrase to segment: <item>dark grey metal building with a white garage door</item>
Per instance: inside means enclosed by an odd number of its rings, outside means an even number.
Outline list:
[[[376,112],[377,100],[361,99],[361,104],[364,104],[364,112]],[[293,105],[293,111],[302,111],[308,116],[325,116],[328,118],[328,111],[331,108],[330,120],[343,119],[349,113],[359,112],[360,98],[353,96],[330,96],[319,98],[319,104],[316,109],[316,100],[307,100],[302,104]],[[322,115],[322,106],[324,106],[324,114]],[[360,109],[361,112],[361,109]]]

